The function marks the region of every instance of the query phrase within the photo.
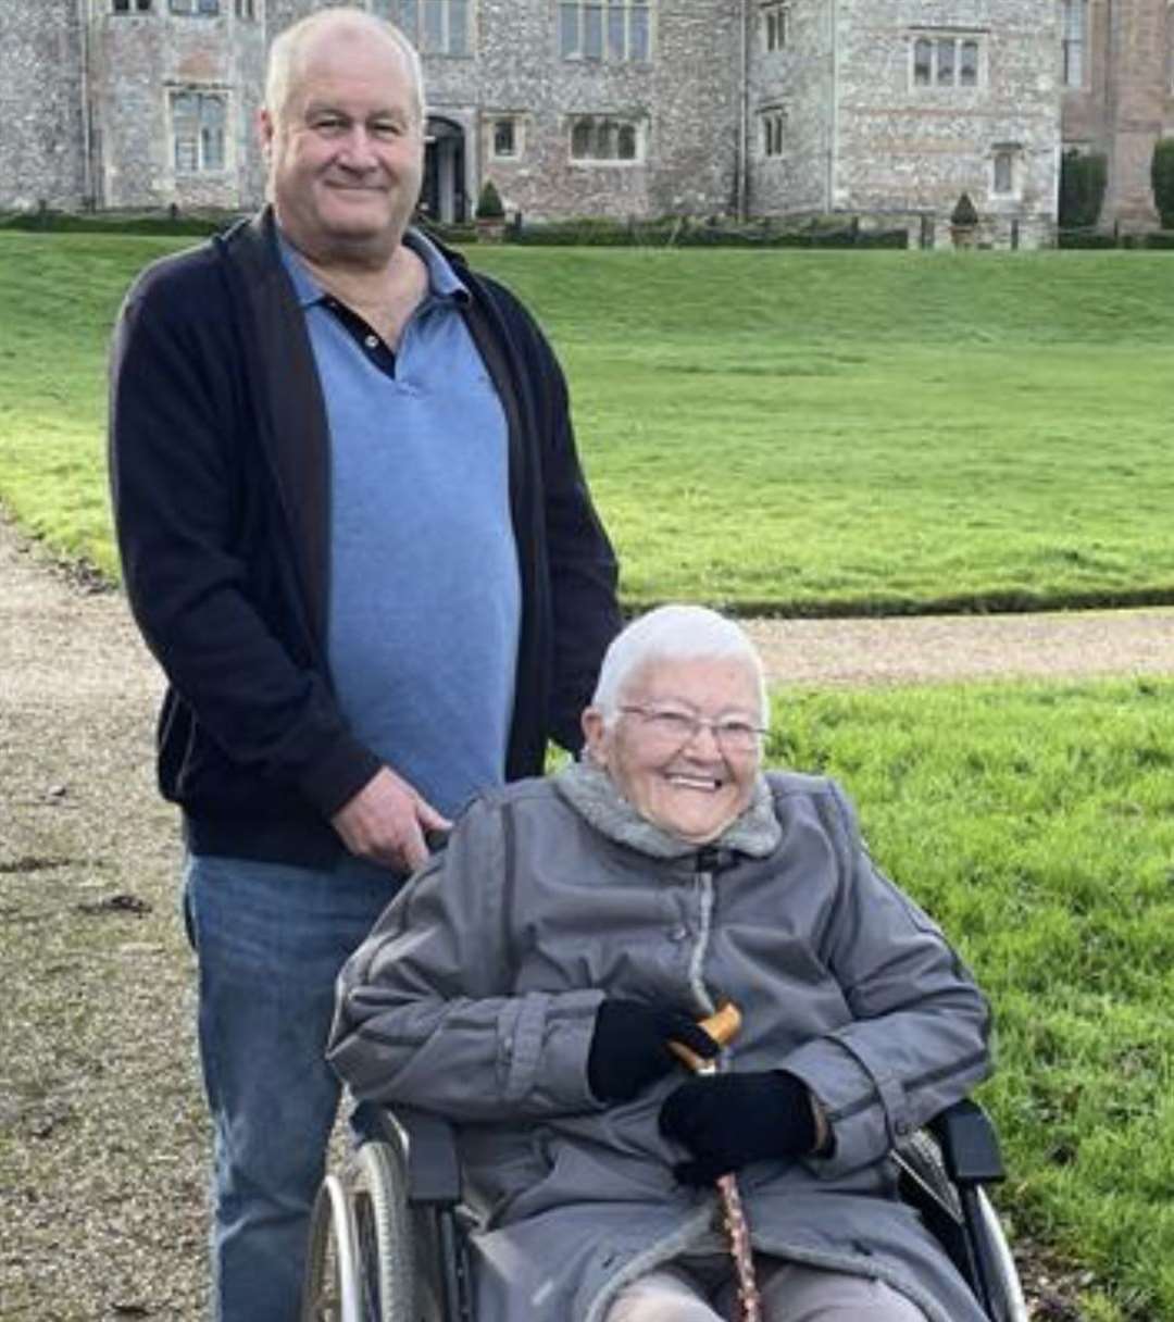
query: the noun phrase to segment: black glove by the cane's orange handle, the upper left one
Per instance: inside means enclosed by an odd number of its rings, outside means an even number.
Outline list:
[[[687,1014],[608,998],[595,1015],[587,1054],[587,1083],[600,1101],[631,1101],[677,1064],[669,1051],[680,1042],[706,1060],[721,1051],[717,1042]]]

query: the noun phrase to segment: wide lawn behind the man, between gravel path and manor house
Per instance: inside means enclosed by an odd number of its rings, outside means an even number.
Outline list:
[[[108,572],[108,328],[175,246],[0,234],[0,501]],[[1174,600],[1174,256],[473,258],[565,360],[632,605]]]

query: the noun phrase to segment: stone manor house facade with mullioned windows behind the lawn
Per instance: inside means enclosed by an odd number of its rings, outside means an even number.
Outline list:
[[[0,209],[241,209],[270,40],[324,0],[4,0]],[[1174,0],[366,0],[423,54],[424,205],[843,213],[1044,242],[1064,149],[1155,215]]]

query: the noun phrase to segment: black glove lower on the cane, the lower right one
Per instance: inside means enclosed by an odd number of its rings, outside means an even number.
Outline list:
[[[695,1158],[674,1167],[682,1185],[713,1185],[752,1161],[802,1157],[816,1145],[810,1093],[781,1069],[689,1079],[665,1099],[660,1128]]]

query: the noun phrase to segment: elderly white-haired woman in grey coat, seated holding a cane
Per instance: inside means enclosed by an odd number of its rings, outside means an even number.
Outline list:
[[[457,1125],[479,1322],[713,1322],[732,1171],[771,1322],[982,1318],[891,1150],[986,1073],[986,1003],[842,791],[760,769],[767,711],[732,621],[643,616],[584,759],[476,800],[342,973],[353,1093]]]

